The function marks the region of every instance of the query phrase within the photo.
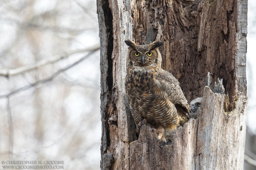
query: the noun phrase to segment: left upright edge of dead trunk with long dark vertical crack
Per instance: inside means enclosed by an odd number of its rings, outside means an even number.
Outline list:
[[[97,2],[100,27],[101,169],[129,169],[129,145],[122,139],[135,140],[136,126],[124,90],[127,47],[123,43],[126,39],[132,39],[131,15],[130,10],[126,9],[126,4],[116,1],[110,4],[104,0]]]

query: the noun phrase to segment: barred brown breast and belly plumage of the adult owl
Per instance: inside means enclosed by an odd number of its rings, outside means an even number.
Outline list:
[[[172,100],[177,82],[167,82],[156,70],[133,71],[126,76],[125,82],[126,95],[136,124],[143,118],[164,127],[180,123],[174,105],[177,102]]]

